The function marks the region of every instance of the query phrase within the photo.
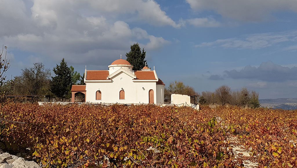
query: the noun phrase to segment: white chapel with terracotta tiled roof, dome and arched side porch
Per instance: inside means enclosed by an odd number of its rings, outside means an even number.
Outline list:
[[[72,85],[75,94],[83,93],[89,103],[164,104],[165,84],[147,66],[134,71],[124,59],[113,61],[108,70],[85,70],[86,85]]]

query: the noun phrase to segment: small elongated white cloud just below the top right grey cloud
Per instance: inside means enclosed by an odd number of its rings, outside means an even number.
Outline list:
[[[219,26],[221,26],[221,23],[219,23],[217,20],[214,20],[214,18],[193,18],[193,19],[188,19],[187,22],[190,25],[193,25],[196,27],[219,27]]]

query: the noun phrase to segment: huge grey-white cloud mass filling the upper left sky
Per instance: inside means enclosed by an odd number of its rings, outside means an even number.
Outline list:
[[[144,22],[155,23],[157,26],[176,26],[152,0],[131,0],[125,3],[104,0],[32,2],[33,6],[28,7],[28,4],[20,0],[11,0],[11,4],[1,1],[0,19],[5,18],[7,22],[4,23],[6,27],[0,29],[0,40],[10,48],[51,57],[54,61],[66,58],[69,63],[106,65],[120,54],[126,53],[135,41],[140,42],[141,47],[145,47],[146,50],[156,50],[170,43],[162,37],[148,34],[142,28],[130,28],[124,21],[108,18],[111,17],[111,13],[132,13]],[[118,10],[119,8],[124,11]],[[144,8],[154,8],[151,9],[154,14],[140,14]],[[145,17],[147,18],[144,19]]]

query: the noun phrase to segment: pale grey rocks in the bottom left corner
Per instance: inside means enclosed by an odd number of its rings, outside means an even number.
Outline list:
[[[0,154],[0,168],[39,168],[39,164],[34,161],[26,161],[9,153]]]

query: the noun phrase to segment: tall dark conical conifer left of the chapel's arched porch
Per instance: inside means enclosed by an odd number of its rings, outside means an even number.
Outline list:
[[[56,76],[52,77],[50,91],[62,101],[69,93],[72,84],[71,69],[67,66],[63,58],[60,65],[57,64],[57,66],[53,68],[53,72]]]

